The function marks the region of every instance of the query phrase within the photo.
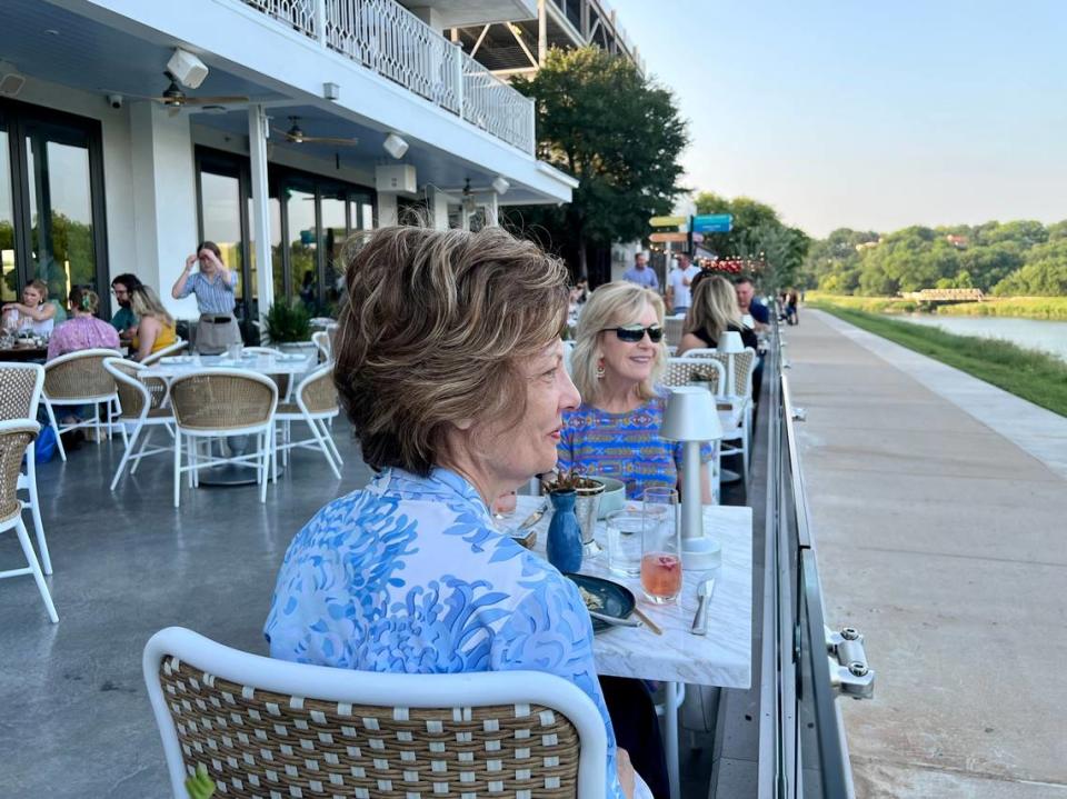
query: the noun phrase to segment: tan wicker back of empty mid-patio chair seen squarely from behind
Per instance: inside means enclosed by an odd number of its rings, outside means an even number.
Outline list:
[[[192,374],[174,380],[170,403],[179,427],[232,430],[266,425],[273,411],[271,389],[240,374]]]

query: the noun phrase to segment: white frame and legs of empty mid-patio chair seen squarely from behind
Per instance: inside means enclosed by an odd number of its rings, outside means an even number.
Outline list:
[[[262,383],[270,388],[270,392],[273,397],[270,406],[270,413],[266,422],[261,425],[247,425],[236,428],[227,428],[223,430],[212,429],[212,430],[195,430],[191,428],[182,429],[181,423],[178,421],[177,415],[174,417],[174,507],[178,508],[181,505],[181,475],[182,472],[189,472],[189,488],[196,488],[200,485],[197,479],[197,472],[200,469],[207,469],[212,466],[221,466],[222,463],[241,463],[245,466],[256,467],[256,482],[259,485],[259,501],[267,501],[267,477],[270,467],[270,455],[273,451],[275,447],[275,411],[278,408],[278,384],[268,377],[259,374],[258,372],[252,372],[243,369],[205,369],[199,372],[192,372],[191,374],[182,374],[181,377],[174,378],[171,382],[171,407],[173,407],[173,397],[174,397],[174,387],[185,382],[186,380],[192,380],[205,374],[218,374],[220,377],[238,377],[246,380],[252,380],[258,383]],[[188,441],[188,458],[189,465],[181,465],[181,438],[185,436]],[[230,458],[222,458],[213,455],[202,456],[199,453],[197,443],[199,441],[210,441],[213,438],[225,438],[228,436],[256,436],[259,440],[259,446],[255,452],[247,455],[233,456]]]

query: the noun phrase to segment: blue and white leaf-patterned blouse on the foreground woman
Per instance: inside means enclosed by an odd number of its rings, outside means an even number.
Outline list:
[[[530,669],[570,680],[608,735],[609,797],[621,797],[615,732],[575,585],[492,526],[447,469],[390,469],[322,508],[286,552],[263,629],[270,656],[363,671]]]

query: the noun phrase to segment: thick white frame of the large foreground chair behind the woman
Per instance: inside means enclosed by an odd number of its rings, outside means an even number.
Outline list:
[[[185,756],[159,681],[160,663],[173,656],[215,677],[265,691],[329,702],[406,708],[542,705],[558,710],[578,731],[579,799],[604,799],[607,731],[597,707],[574,683],[541,671],[397,675],[352,671],[273,660],[225,647],[181,627],[168,627],[144,646],[141,667],[163,741],[174,799],[187,799]]]

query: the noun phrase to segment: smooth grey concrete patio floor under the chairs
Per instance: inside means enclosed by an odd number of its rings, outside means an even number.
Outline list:
[[[290,540],[371,475],[346,421],[335,422],[333,438],[342,480],[318,452],[297,451],[266,505],[255,486],[183,485],[176,510],[167,456],[144,460],[111,493],[118,439],[39,467],[60,621],[48,621],[31,578],[0,581],[0,796],[168,796],[141,676],[144,642],[178,625],[266,655],[262,625]],[[740,499],[732,489],[726,497]],[[0,536],[0,569],[23,562],[14,536]],[[707,797],[711,743],[700,742],[684,763],[687,799]]]

